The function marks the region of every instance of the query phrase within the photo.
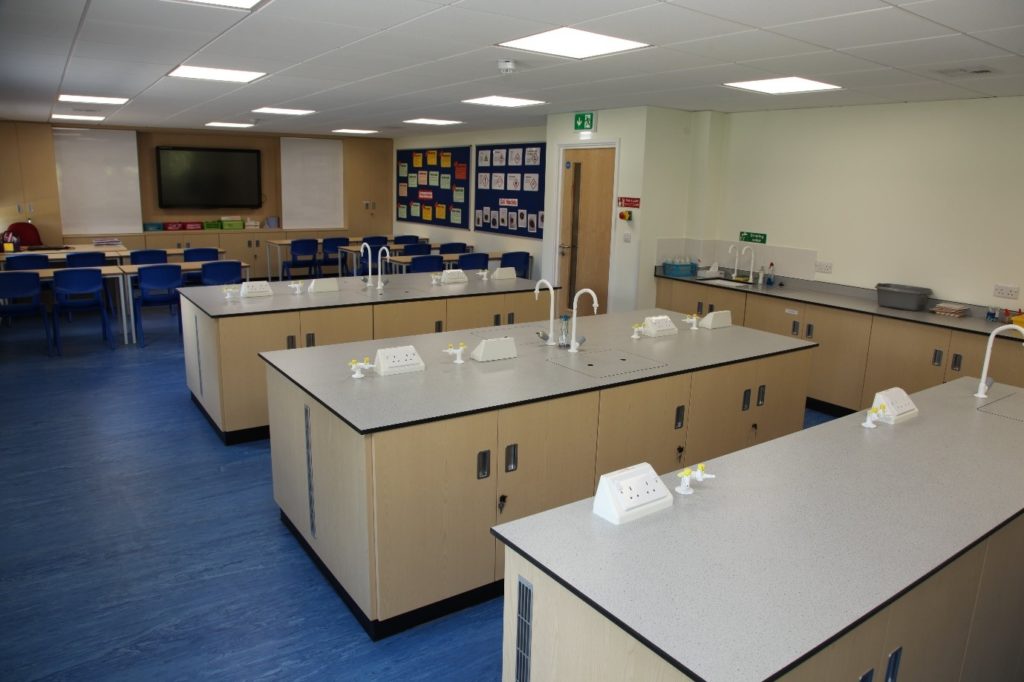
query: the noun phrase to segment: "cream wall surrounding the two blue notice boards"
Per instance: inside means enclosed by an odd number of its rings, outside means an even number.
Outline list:
[[[416,150],[430,146],[466,146],[472,144],[501,144],[502,142],[543,142],[546,130],[538,128],[509,128],[504,130],[486,130],[471,133],[442,133],[436,135],[418,135],[415,137],[398,137],[394,140],[395,150]],[[548,147],[550,156],[551,148]],[[395,157],[397,159],[397,157]],[[397,163],[392,160],[392,168]],[[476,163],[471,165],[475,173]],[[473,175],[475,178],[475,174]],[[551,177],[550,175],[548,176]],[[550,179],[548,186],[550,187]],[[474,184],[475,183],[471,183]],[[471,190],[469,199],[470,229],[453,229],[451,227],[431,227],[430,225],[418,222],[394,221],[395,235],[419,235],[427,237],[431,242],[466,242],[472,244],[476,251],[526,251],[534,256],[534,276],[540,278],[543,267],[542,242],[541,240],[526,239],[521,237],[505,237],[492,232],[479,231],[472,228],[472,218],[475,206],[474,193]],[[548,210],[548,194],[545,195],[545,214],[550,215]],[[551,230],[550,220],[545,225],[545,232]],[[557,223],[555,223],[557,224]]]

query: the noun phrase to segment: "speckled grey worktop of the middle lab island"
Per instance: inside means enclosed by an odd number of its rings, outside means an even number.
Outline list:
[[[651,314],[671,315],[679,334],[631,339],[632,325]],[[537,332],[547,329],[547,322],[524,323],[260,356],[357,431],[371,433],[816,345],[743,327],[690,331],[679,313],[656,309],[580,317],[579,334],[588,341],[578,354],[544,345]],[[493,363],[469,358],[481,339],[501,336],[515,339],[518,357]],[[442,352],[450,343],[459,342],[467,346],[464,365],[455,365]],[[416,346],[427,366],[425,372],[380,377],[371,371],[364,379],[352,379],[350,359],[373,358],[378,348],[408,344]],[[592,376],[602,368],[616,374]]]

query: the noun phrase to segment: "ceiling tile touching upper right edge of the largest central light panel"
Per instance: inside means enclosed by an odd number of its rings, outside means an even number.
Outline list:
[[[574,24],[573,27],[650,45],[712,38],[745,31],[748,28],[666,3]]]

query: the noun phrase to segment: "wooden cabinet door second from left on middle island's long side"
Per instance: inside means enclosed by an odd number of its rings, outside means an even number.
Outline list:
[[[597,391],[498,413],[498,523],[594,495]],[[505,576],[505,545],[495,542],[495,580]]]

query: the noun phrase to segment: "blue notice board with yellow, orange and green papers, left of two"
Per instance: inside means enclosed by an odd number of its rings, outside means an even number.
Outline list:
[[[397,150],[395,218],[469,229],[470,148]]]

